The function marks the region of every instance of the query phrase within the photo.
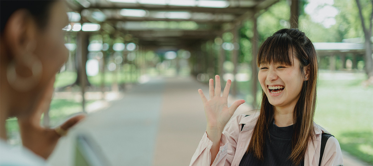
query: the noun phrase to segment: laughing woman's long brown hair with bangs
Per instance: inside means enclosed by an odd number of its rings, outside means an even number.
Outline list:
[[[260,46],[257,65],[279,63],[293,65],[292,59],[300,62],[300,71],[304,77],[304,68],[308,67],[309,78],[303,82],[300,97],[294,108],[294,133],[289,159],[299,165],[303,161],[307,145],[314,140],[313,116],[316,107],[316,81],[318,64],[316,50],[305,34],[298,29],[281,29],[268,37]],[[247,152],[251,151],[259,160],[264,160],[263,151],[268,127],[273,122],[275,108],[269,103],[263,92],[260,115],[254,128]]]

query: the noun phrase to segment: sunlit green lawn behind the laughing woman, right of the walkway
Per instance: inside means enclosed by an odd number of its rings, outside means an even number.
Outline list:
[[[373,164],[373,87],[363,87],[364,80],[364,73],[321,70],[314,121],[338,139],[341,149]],[[253,101],[250,82],[239,82],[238,87]]]

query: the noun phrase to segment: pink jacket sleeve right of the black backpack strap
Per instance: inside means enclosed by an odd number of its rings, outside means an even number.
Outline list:
[[[342,151],[335,137],[329,137],[326,142],[321,166],[342,166]]]

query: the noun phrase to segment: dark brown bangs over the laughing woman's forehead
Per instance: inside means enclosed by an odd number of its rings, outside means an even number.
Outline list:
[[[265,40],[258,50],[258,67],[261,64],[285,64],[293,65],[293,46],[289,35],[286,33],[275,34]]]

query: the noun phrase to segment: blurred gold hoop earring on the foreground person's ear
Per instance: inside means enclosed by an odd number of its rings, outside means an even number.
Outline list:
[[[41,61],[38,60],[35,56],[28,55],[24,56],[23,64],[25,64],[26,67],[28,67],[32,75],[29,77],[22,77],[19,76],[16,72],[16,65],[15,62],[10,62],[7,70],[6,70],[6,76],[9,85],[18,92],[27,92],[31,90],[33,87],[36,86],[36,84],[39,82],[41,77],[41,72],[43,70],[43,65],[41,64]]]

